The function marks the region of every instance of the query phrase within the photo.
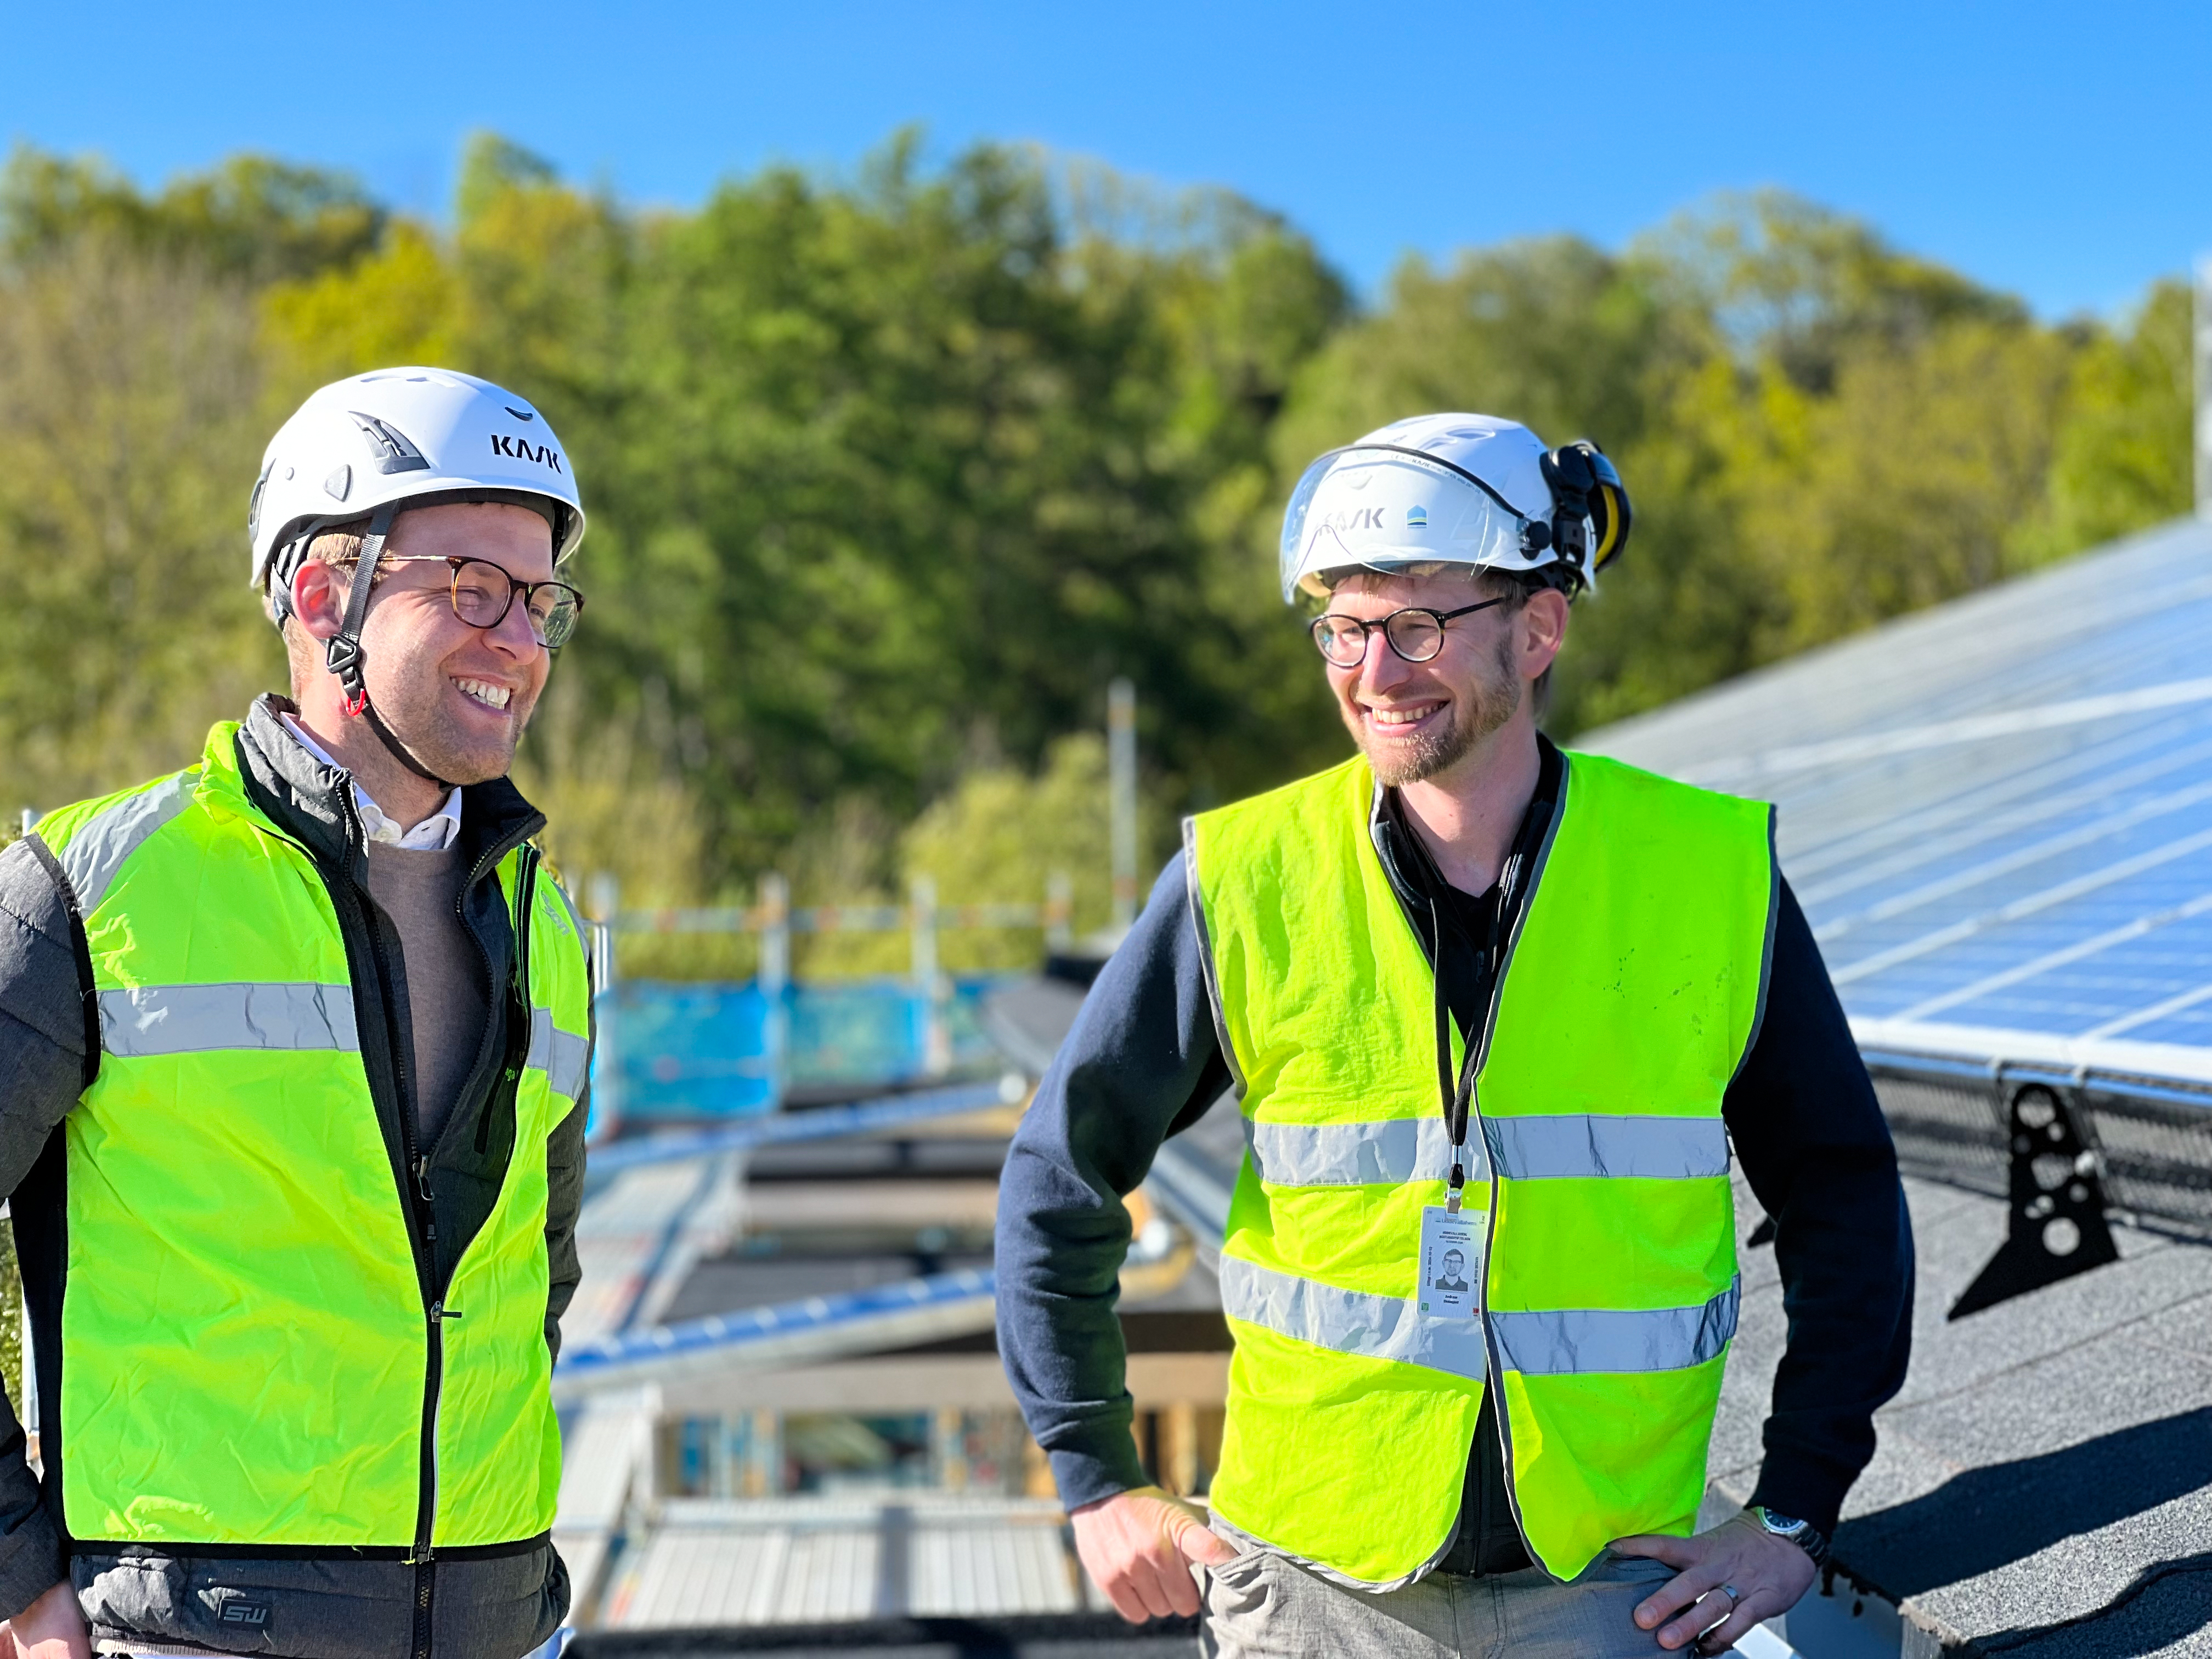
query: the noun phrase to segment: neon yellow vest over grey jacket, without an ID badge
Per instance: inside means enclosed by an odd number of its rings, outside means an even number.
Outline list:
[[[369,1095],[314,860],[201,765],[64,807],[100,1075],[64,1119],[62,1504],[80,1542],[420,1551],[553,1524],[546,1137],[575,1108],[588,980],[535,849],[515,1150],[438,1296]]]

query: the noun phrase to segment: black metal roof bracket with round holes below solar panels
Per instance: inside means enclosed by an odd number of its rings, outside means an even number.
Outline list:
[[[2004,1066],[1991,1068],[2000,1110],[2008,1119],[2011,1228],[1949,1318],[2055,1285],[2119,1261],[2104,1217],[2104,1177],[2084,1133],[2079,1077],[2075,1088],[2048,1082],[2008,1086]]]

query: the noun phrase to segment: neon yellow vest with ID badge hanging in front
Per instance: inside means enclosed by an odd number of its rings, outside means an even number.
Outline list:
[[[1371,801],[1352,761],[1188,825],[1250,1137],[1212,1506],[1336,1579],[1405,1584],[1451,1544],[1495,1378],[1522,1537],[1573,1579],[1615,1537],[1688,1533],[1703,1498],[1739,1285],[1721,1095],[1765,987],[1770,807],[1566,757],[1478,1048],[1482,1316],[1433,1321],[1436,978]]]

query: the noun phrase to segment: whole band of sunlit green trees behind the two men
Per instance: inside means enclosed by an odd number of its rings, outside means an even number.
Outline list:
[[[1155,856],[1177,812],[1340,754],[1274,529],[1383,420],[1482,409],[1619,460],[1635,546],[1577,611],[1573,732],[2183,511],[2188,358],[2179,283],[2046,325],[1778,195],[1626,250],[1413,259],[1363,312],[1248,201],[1006,146],[931,166],[900,135],[668,212],[482,137],[447,226],[265,157],[148,192],[24,148],[0,805],[175,765],[276,684],[246,495],[283,414],[365,367],[507,380],[568,445],[591,613],[524,774],[571,872],[675,905],[765,869],[1037,898],[1104,856],[1066,739],[1113,675]],[[1071,874],[1088,918],[1099,872]]]

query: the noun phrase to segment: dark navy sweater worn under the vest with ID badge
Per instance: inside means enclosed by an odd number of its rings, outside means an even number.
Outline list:
[[[1517,849],[1542,841],[1559,794],[1557,750],[1542,748],[1542,781]],[[1391,792],[1378,794],[1371,838],[1431,962],[1429,898],[1438,900],[1444,993],[1462,1031],[1480,1026],[1495,967],[1484,947],[1493,931],[1511,933],[1526,898],[1513,891],[1511,872],[1528,860],[1509,860],[1504,894],[1449,889]],[[1000,1354],[1071,1509],[1146,1484],[1115,1314],[1130,1234],[1121,1199],[1144,1181],[1159,1144],[1228,1086],[1177,854],[1091,987],[1000,1179]],[[1913,1250],[1889,1128],[1787,883],[1765,1018],[1721,1115],[1745,1181],[1774,1221],[1790,1316],[1752,1502],[1834,1531],[1845,1491],[1874,1455],[1874,1411],[1905,1383]],[[1498,1573],[1526,1564],[1484,1405],[1442,1566]]]

